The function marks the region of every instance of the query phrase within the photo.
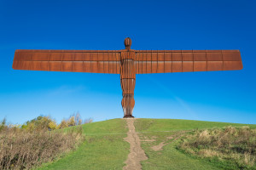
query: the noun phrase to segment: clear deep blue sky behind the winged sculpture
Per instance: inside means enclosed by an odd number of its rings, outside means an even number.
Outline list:
[[[15,49],[240,49],[241,71],[137,75],[136,117],[256,123],[256,3],[0,0],[0,119],[123,116],[119,75],[15,71]]]

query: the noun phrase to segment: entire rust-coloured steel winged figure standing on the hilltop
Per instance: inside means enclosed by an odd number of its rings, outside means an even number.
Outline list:
[[[124,117],[133,117],[136,74],[241,70],[239,50],[133,50],[125,38],[122,50],[15,51],[15,70],[120,74]]]

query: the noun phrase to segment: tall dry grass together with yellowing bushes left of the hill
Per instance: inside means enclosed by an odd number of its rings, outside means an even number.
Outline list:
[[[59,125],[50,116],[38,116],[22,126],[7,125],[3,119],[0,122],[0,169],[30,169],[73,150],[84,140],[83,128],[74,127],[82,122],[79,112],[63,119]],[[65,127],[69,128],[61,130]]]

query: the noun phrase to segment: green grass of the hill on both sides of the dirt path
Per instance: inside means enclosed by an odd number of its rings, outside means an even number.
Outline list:
[[[177,150],[177,139],[193,129],[230,125],[256,128],[256,125],[225,122],[137,119],[136,131],[148,156],[148,160],[142,162],[143,169],[219,169],[216,163]],[[124,140],[128,131],[124,119],[92,122],[83,125],[83,129],[86,139],[84,144],[59,160],[44,164],[38,169],[122,169],[125,166],[130,145]]]

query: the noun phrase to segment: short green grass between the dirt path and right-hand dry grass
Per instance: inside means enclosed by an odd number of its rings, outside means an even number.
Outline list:
[[[177,140],[174,139],[182,131],[196,128],[225,127],[232,125],[234,127],[246,126],[245,124],[225,123],[225,122],[201,122],[189,120],[173,119],[137,119],[135,122],[136,130],[141,138],[155,139],[154,142],[142,142],[143,150],[148,156],[147,161],[143,161],[143,169],[219,169],[218,163],[213,164],[205,160],[196,159],[192,156],[181,153],[176,149]],[[255,127],[256,125],[248,125]],[[154,151],[152,146],[164,142],[166,145],[163,150]]]

